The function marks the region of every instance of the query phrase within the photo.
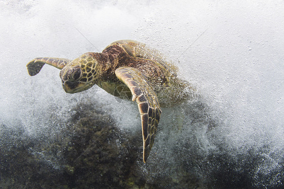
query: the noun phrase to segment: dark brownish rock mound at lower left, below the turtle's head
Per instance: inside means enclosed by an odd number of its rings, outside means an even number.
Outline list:
[[[51,142],[21,137],[21,129],[4,129],[7,133],[1,135],[7,139],[2,137],[0,143],[0,187],[143,187],[146,180],[136,178],[132,171],[134,162],[141,159],[141,141],[136,139],[141,133],[121,131],[96,108],[79,104],[71,110],[71,124]],[[8,138],[11,135],[14,144]]]

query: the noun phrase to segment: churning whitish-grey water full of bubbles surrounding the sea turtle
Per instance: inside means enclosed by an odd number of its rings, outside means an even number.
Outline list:
[[[0,148],[19,129],[55,139],[80,102],[102,103],[122,130],[140,129],[137,108],[98,86],[67,94],[58,69],[26,70],[36,57],[74,59],[134,39],[174,62],[201,97],[163,109],[147,165],[136,162],[141,175],[174,180],[183,167],[206,187],[281,188],[283,9],[283,1],[0,1]]]

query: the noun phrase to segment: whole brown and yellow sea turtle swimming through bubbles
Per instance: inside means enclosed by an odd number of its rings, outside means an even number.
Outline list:
[[[36,58],[27,64],[29,75],[36,75],[44,64],[61,69],[60,78],[68,93],[81,92],[97,84],[116,97],[136,100],[141,117],[144,162],[154,143],[160,105],[180,103],[190,98],[192,90],[186,81],[177,78],[173,64],[134,40],[115,41],[102,53],[85,53],[75,60]]]

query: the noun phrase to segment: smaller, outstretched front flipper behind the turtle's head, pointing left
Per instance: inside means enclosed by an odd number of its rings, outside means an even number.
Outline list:
[[[71,62],[71,60],[60,58],[35,58],[27,64],[27,68],[29,75],[34,76],[38,74],[44,64],[49,64],[58,69],[62,69],[69,62]]]

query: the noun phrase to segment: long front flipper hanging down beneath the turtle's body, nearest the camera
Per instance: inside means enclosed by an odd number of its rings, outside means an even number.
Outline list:
[[[138,69],[120,67],[115,70],[119,80],[128,86],[132,93],[132,101],[136,100],[141,116],[143,135],[143,160],[146,162],[160,121],[160,105],[152,84]]]

